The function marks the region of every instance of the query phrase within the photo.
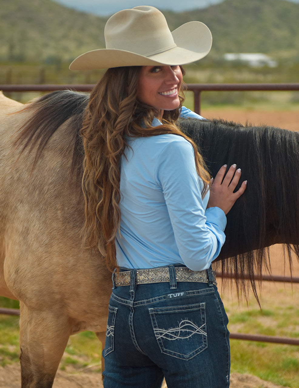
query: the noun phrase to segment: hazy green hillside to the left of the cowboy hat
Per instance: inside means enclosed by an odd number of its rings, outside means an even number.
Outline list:
[[[106,21],[51,0],[0,0],[0,62],[70,61],[104,47]]]

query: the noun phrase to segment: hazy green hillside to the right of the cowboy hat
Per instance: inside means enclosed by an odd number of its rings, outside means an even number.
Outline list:
[[[284,0],[226,0],[206,9],[181,12],[173,19],[176,28],[200,20],[212,31],[212,53],[291,52],[299,60],[299,4]]]

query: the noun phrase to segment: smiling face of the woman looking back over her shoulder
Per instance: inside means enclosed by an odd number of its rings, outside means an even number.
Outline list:
[[[179,107],[183,74],[179,66],[142,66],[137,84],[139,101],[160,111]]]

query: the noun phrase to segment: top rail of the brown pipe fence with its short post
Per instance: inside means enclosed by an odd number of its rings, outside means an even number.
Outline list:
[[[69,85],[0,85],[3,92],[52,92],[54,90],[76,90],[90,92],[95,84]],[[188,90],[194,93],[194,111],[200,114],[202,92],[232,92],[232,91],[296,91],[299,83],[188,83]]]

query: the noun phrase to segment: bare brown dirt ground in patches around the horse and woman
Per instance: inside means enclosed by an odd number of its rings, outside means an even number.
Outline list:
[[[299,131],[299,112],[296,111],[241,111],[241,110],[203,110],[201,112],[205,118],[223,118],[228,121],[237,121],[242,124],[249,122],[251,125],[273,125],[280,128]],[[284,266],[281,260],[281,247],[271,248],[272,273],[276,275],[289,275],[289,268]],[[293,275],[299,276],[299,264],[294,262]],[[266,283],[266,282],[265,282]],[[269,283],[269,282],[268,282]],[[297,287],[298,288],[298,287]],[[271,292],[271,286],[265,284],[263,294]],[[298,295],[298,289],[295,291]],[[231,296],[233,297],[233,296]],[[293,296],[294,297],[294,296]],[[297,298],[297,296],[296,296]],[[295,299],[294,299],[295,303]],[[21,386],[19,364],[0,367],[0,388],[19,388]],[[267,381],[262,381],[256,376],[247,374],[231,374],[231,388],[282,388]],[[91,370],[78,371],[58,371],[53,388],[102,388],[101,375]],[[166,386],[163,385],[163,388]],[[139,388],[139,387],[136,387]]]

